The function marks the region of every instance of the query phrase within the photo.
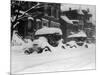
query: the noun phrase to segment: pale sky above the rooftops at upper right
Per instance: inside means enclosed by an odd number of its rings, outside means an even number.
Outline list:
[[[69,8],[71,8],[71,10],[78,10],[78,13],[80,14],[83,14],[82,10],[89,9],[89,14],[92,14],[91,22],[95,24],[96,21],[95,5],[80,5],[80,4],[66,4],[66,3],[61,4],[61,11],[69,11]]]

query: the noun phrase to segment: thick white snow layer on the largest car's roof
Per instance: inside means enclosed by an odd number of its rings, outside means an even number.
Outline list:
[[[62,35],[62,31],[60,28],[54,28],[54,27],[43,27],[36,31],[35,35],[43,35],[43,34],[53,34],[53,33],[59,33]]]

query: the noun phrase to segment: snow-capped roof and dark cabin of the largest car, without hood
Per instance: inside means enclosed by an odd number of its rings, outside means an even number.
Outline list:
[[[53,47],[58,46],[58,41],[62,37],[62,31],[59,28],[44,27],[35,33],[36,37],[45,37],[50,45]]]

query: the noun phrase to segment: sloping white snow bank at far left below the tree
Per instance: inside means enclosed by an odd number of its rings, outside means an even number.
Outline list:
[[[32,47],[32,41],[30,39],[22,39],[17,31],[13,32],[13,37],[11,41],[11,49],[12,50],[23,50],[25,48]]]

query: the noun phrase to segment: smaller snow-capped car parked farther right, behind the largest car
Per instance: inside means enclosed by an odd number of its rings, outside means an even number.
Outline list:
[[[72,34],[68,36],[72,41],[68,42],[66,45],[72,47],[85,47],[88,48],[87,45],[87,35],[84,31],[80,31],[76,34]]]

